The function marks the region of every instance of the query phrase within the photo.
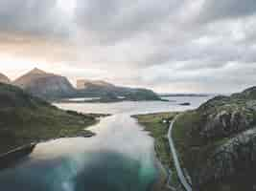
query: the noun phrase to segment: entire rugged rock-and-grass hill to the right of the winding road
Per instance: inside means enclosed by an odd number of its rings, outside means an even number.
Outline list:
[[[195,190],[255,190],[256,88],[217,96],[175,122],[173,137]]]

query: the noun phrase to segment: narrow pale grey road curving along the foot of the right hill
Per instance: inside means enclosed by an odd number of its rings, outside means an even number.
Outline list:
[[[173,126],[174,126],[174,123],[175,123],[175,120],[176,120],[177,117],[178,116],[176,116],[170,124],[170,128],[169,128],[169,131],[168,131],[169,144],[170,144],[170,148],[171,148],[173,158],[175,160],[175,169],[176,169],[176,172],[177,172],[178,179],[180,180],[180,182],[182,183],[182,185],[184,186],[186,191],[192,191],[192,187],[188,183],[188,181],[186,180],[186,178],[183,174],[183,171],[180,167],[180,164],[179,164],[179,161],[178,161],[177,155],[176,155],[174,140],[172,138],[172,130],[173,130]]]

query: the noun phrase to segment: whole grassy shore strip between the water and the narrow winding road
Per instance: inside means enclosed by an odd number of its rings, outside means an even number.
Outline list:
[[[132,116],[137,119],[144,131],[150,132],[150,136],[154,138],[154,151],[159,169],[159,178],[152,187],[152,190],[155,191],[183,191],[175,172],[175,165],[167,138],[169,122],[177,114],[176,112],[170,112]]]

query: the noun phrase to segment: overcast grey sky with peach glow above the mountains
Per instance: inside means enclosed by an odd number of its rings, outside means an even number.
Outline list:
[[[0,73],[34,67],[156,92],[241,91],[256,85],[256,3],[0,0]]]

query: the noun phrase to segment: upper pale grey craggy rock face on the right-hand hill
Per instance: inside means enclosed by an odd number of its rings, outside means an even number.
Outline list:
[[[214,108],[205,110],[203,105],[198,110],[198,113],[205,118],[200,131],[203,138],[229,137],[250,128],[255,122],[253,108],[247,101],[239,102],[232,99],[221,101],[221,105]]]

